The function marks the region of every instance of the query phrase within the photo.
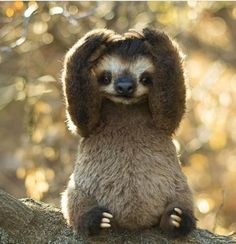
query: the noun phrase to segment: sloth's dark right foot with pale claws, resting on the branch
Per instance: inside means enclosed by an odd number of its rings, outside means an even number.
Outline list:
[[[162,215],[161,229],[173,238],[186,236],[196,227],[196,219],[189,209],[173,204]]]

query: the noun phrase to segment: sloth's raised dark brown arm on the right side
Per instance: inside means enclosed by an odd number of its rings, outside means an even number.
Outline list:
[[[156,126],[172,134],[185,112],[186,88],[180,52],[162,32],[145,28],[143,36],[155,66],[155,80],[149,93],[150,111]]]

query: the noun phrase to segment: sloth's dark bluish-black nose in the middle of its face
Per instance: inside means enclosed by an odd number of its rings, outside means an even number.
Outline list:
[[[115,90],[119,95],[130,96],[135,89],[135,83],[132,78],[122,77],[117,79],[115,83]]]

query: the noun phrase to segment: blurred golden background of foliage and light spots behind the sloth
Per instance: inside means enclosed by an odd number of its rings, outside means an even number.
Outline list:
[[[65,124],[65,52],[94,28],[152,26],[186,55],[188,111],[175,136],[199,227],[236,230],[236,3],[1,2],[0,187],[59,206],[77,153]]]

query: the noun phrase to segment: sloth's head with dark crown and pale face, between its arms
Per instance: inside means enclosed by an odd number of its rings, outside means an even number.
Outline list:
[[[123,104],[134,104],[148,97],[155,67],[151,57],[142,53],[143,48],[142,41],[122,41],[100,57],[93,70],[103,97]]]

